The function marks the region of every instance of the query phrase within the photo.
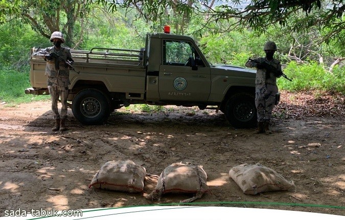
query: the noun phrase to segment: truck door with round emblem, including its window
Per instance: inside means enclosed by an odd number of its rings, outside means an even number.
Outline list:
[[[158,80],[160,100],[208,100],[211,91],[211,71],[200,60],[192,42],[163,40],[162,57]],[[193,68],[192,62],[195,63]]]

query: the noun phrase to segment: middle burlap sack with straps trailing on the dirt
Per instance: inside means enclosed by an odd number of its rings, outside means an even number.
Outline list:
[[[164,193],[196,193],[191,199],[181,202],[188,203],[199,199],[204,192],[209,191],[206,184],[207,174],[202,166],[190,163],[174,163],[166,167],[158,178],[155,189],[146,196],[146,199],[160,200]]]

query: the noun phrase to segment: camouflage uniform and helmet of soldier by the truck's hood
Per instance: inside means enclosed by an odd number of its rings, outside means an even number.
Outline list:
[[[274,51],[275,50],[277,50],[276,47],[274,48]],[[278,71],[282,70],[282,66],[279,60],[273,58],[269,60],[267,59],[267,57],[259,57],[254,60],[248,60],[245,63],[245,66],[254,68],[257,67],[258,62],[266,62]],[[269,75],[266,76],[267,74]],[[265,130],[263,130],[263,126],[265,126],[266,131],[269,131],[268,125],[272,116],[272,111],[275,103],[275,95],[277,93],[277,77],[274,75],[274,73],[269,73],[266,69],[258,68],[255,79],[255,105],[257,107],[259,133],[265,132]]]

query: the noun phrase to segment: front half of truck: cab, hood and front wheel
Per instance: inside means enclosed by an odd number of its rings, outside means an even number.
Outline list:
[[[254,70],[211,64],[188,36],[155,33],[147,39],[147,101],[214,108],[236,127],[256,125]]]

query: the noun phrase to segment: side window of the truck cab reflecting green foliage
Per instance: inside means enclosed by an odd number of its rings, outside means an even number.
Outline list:
[[[185,65],[193,57],[193,45],[186,41],[164,40],[163,63],[165,65]]]

